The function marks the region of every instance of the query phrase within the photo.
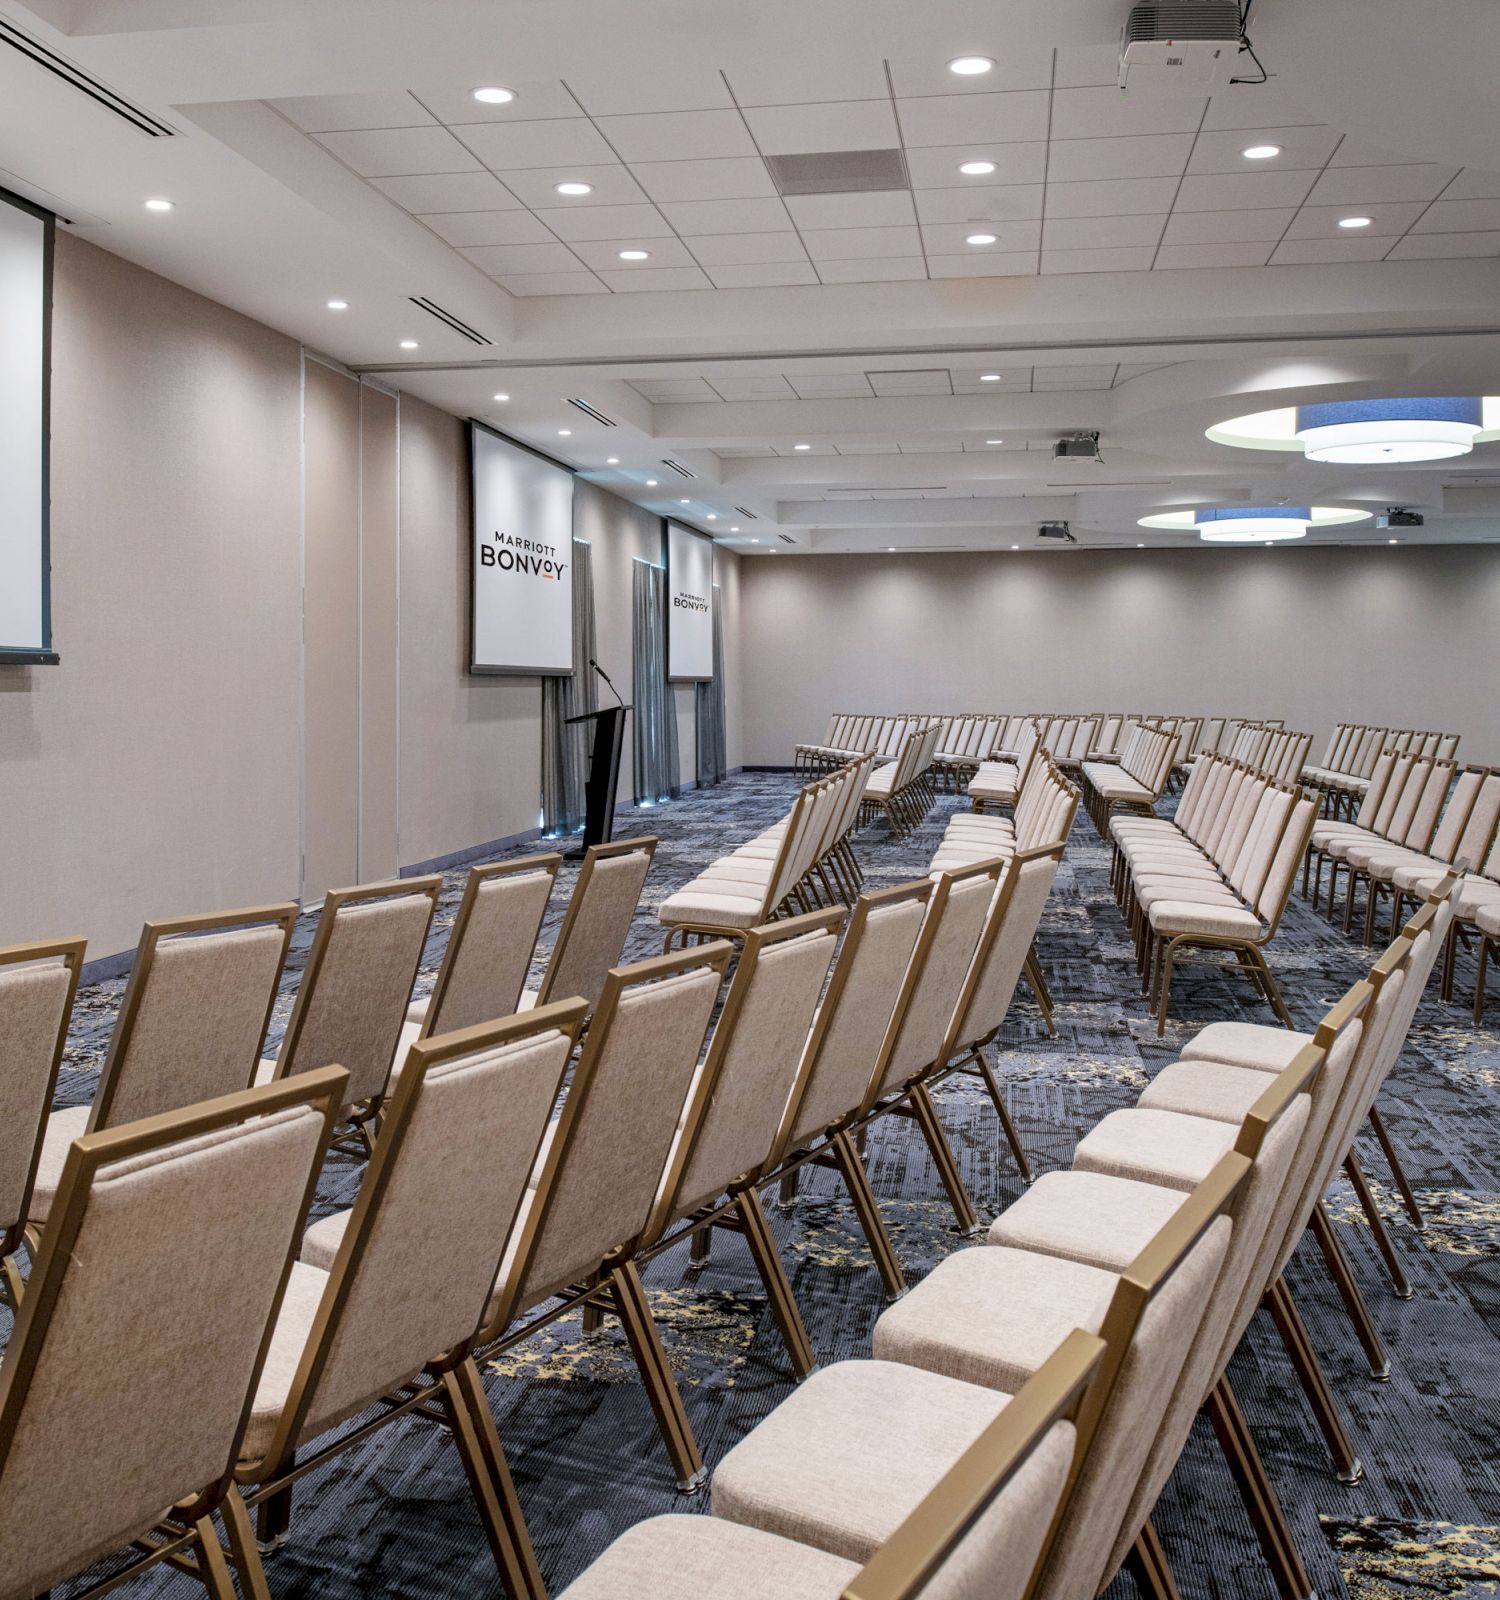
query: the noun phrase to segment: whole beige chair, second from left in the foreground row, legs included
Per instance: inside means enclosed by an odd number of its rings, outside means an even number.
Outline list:
[[[262,1549],[286,1541],[299,1477],[421,1413],[457,1446],[507,1595],[544,1600],[473,1341],[584,1010],[568,1000],[411,1046],[358,1200],[309,1230],[277,1317],[235,1469]]]

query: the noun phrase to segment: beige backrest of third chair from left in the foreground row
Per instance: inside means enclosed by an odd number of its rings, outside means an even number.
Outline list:
[[[731,946],[616,966],[604,981],[517,1266],[491,1328],[635,1246],[651,1219]],[[525,1258],[521,1254],[525,1251]]]

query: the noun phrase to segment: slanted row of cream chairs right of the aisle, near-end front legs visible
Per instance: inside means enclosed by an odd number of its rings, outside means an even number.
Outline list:
[[[1220,950],[1254,979],[1286,1027],[1265,960],[1318,814],[1316,800],[1223,755],[1193,763],[1171,819],[1116,816],[1111,885],[1135,939],[1142,990],[1166,1030],[1172,971],[1190,950]]]

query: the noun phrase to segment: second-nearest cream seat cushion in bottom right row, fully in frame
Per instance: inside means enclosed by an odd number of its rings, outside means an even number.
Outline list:
[[[864,1563],[1007,1400],[896,1362],[824,1366],[718,1464],[713,1515]]]

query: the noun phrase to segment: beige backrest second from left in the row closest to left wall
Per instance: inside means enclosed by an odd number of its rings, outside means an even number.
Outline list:
[[[296,920],[296,906],[265,906],[146,923],[90,1133],[251,1082]]]

